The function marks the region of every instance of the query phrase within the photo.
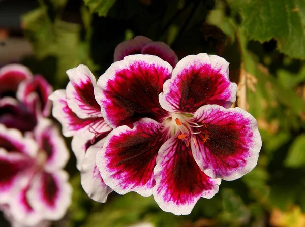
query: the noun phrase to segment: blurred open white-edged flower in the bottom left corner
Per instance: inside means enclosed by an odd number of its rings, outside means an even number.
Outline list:
[[[18,223],[35,225],[62,218],[71,203],[69,152],[58,128],[40,119],[25,137],[0,124],[0,202]]]

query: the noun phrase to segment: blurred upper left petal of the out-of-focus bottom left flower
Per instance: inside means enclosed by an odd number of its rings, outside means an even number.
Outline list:
[[[37,144],[32,138],[23,137],[15,128],[7,128],[0,124],[0,148],[7,152],[20,152],[34,157],[37,153]]]

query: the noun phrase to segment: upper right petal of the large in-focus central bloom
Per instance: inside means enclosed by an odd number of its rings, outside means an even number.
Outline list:
[[[224,58],[189,55],[177,63],[159,100],[170,112],[194,113],[206,104],[229,108],[236,100],[236,87],[229,79],[229,63]]]

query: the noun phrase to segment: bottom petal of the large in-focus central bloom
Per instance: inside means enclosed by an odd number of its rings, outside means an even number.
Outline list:
[[[221,179],[205,175],[190,147],[171,138],[160,148],[154,169],[154,198],[160,208],[175,215],[190,214],[200,197],[212,198]]]

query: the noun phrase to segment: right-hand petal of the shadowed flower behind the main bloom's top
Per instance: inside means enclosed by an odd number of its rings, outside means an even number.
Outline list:
[[[160,57],[161,59],[167,61],[173,68],[176,66],[178,62],[178,57],[175,52],[163,42],[153,42],[147,44],[143,47],[141,54],[150,54]]]

